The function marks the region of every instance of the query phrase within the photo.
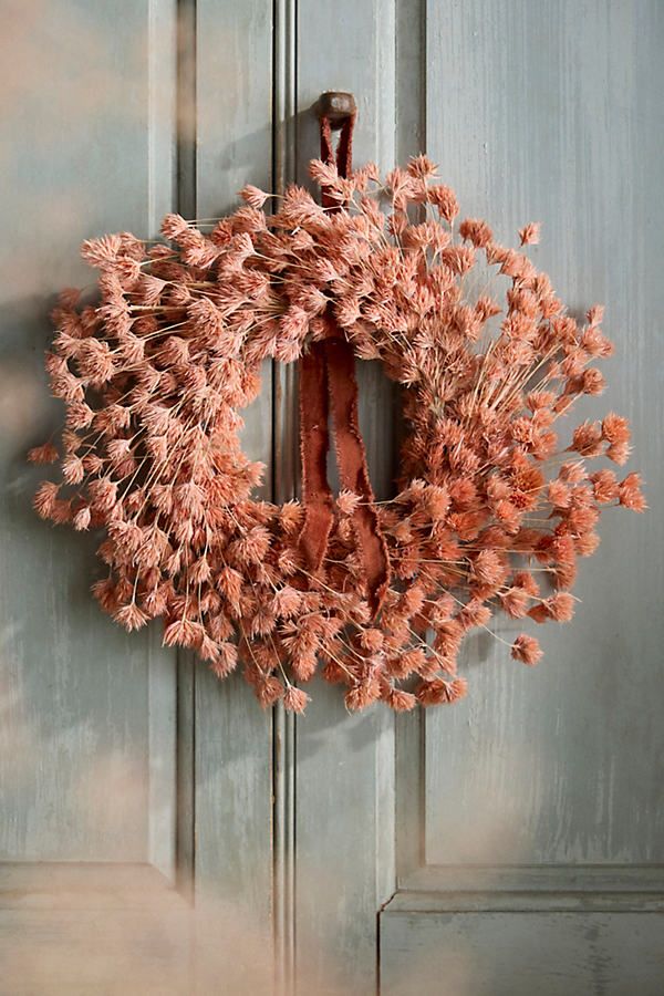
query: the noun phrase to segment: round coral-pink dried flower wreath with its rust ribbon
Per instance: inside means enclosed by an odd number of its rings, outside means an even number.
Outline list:
[[[266,215],[269,195],[247,186],[208,235],[168,215],[170,245],[127,232],[84,243],[101,302],[62,292],[46,357],[66,405],[62,456],[52,443],[30,454],[62,459],[38,512],[105,531],[108,577],[93,590],[107,612],[127,630],[163,616],[165,644],[196,650],[219,677],[240,658],[263,705],[295,712],[319,661],[351,709],[461,697],[465,634],[496,609],[569,620],[601,511],[645,507],[639,475],[587,467],[625,463],[624,418],[584,422],[569,445],[553,428],[604,386],[590,365],[612,352],[602,309],[579,323],[523,252],[484,221],[457,224],[427,157],[384,179],[374,165],[345,175],[351,132],[335,164],[323,122],[310,167],[321,205],[292,186]],[[527,225],[521,246],[538,230]],[[385,502],[366,471],[355,357],[403,388],[407,437]],[[303,497],[282,506],[252,497],[263,467],[239,440],[268,359],[301,364]],[[511,655],[531,665],[541,651],[522,634]]]

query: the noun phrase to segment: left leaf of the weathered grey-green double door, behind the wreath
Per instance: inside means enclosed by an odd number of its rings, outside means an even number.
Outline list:
[[[272,718],[239,683],[221,689],[162,649],[158,627],[133,640],[104,618],[89,591],[94,539],[39,522],[39,470],[24,460],[62,418],[43,351],[55,292],[94,279],[81,240],[123,229],[155,238],[169,210],[219,214],[246,177],[270,184],[272,12],[252,7],[2,4],[0,992],[10,996],[212,993],[221,971],[228,992],[264,992],[272,975]],[[247,429],[268,458],[270,411],[268,383]]]

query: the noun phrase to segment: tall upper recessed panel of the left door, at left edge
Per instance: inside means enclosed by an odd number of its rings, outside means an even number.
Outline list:
[[[102,615],[87,591],[94,543],[37,519],[44,475],[24,463],[61,417],[43,350],[54,292],[93,279],[80,242],[107,228],[153,235],[170,204],[174,22],[153,23],[148,3],[126,14],[117,25],[83,4],[17,4],[4,34],[0,857],[155,857],[172,874],[173,655],[155,633],[134,640]]]

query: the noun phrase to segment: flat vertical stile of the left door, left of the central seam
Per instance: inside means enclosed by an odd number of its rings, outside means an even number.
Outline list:
[[[273,12],[266,0],[196,0],[195,217],[205,231],[240,206],[246,184],[272,189]],[[266,466],[271,497],[272,375],[240,414],[241,444]],[[270,992],[273,976],[272,712],[240,668],[195,682],[197,992]],[[221,983],[222,979],[222,983]]]

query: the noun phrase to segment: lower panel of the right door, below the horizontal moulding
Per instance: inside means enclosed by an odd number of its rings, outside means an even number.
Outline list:
[[[382,996],[658,996],[662,913],[390,913]]]

